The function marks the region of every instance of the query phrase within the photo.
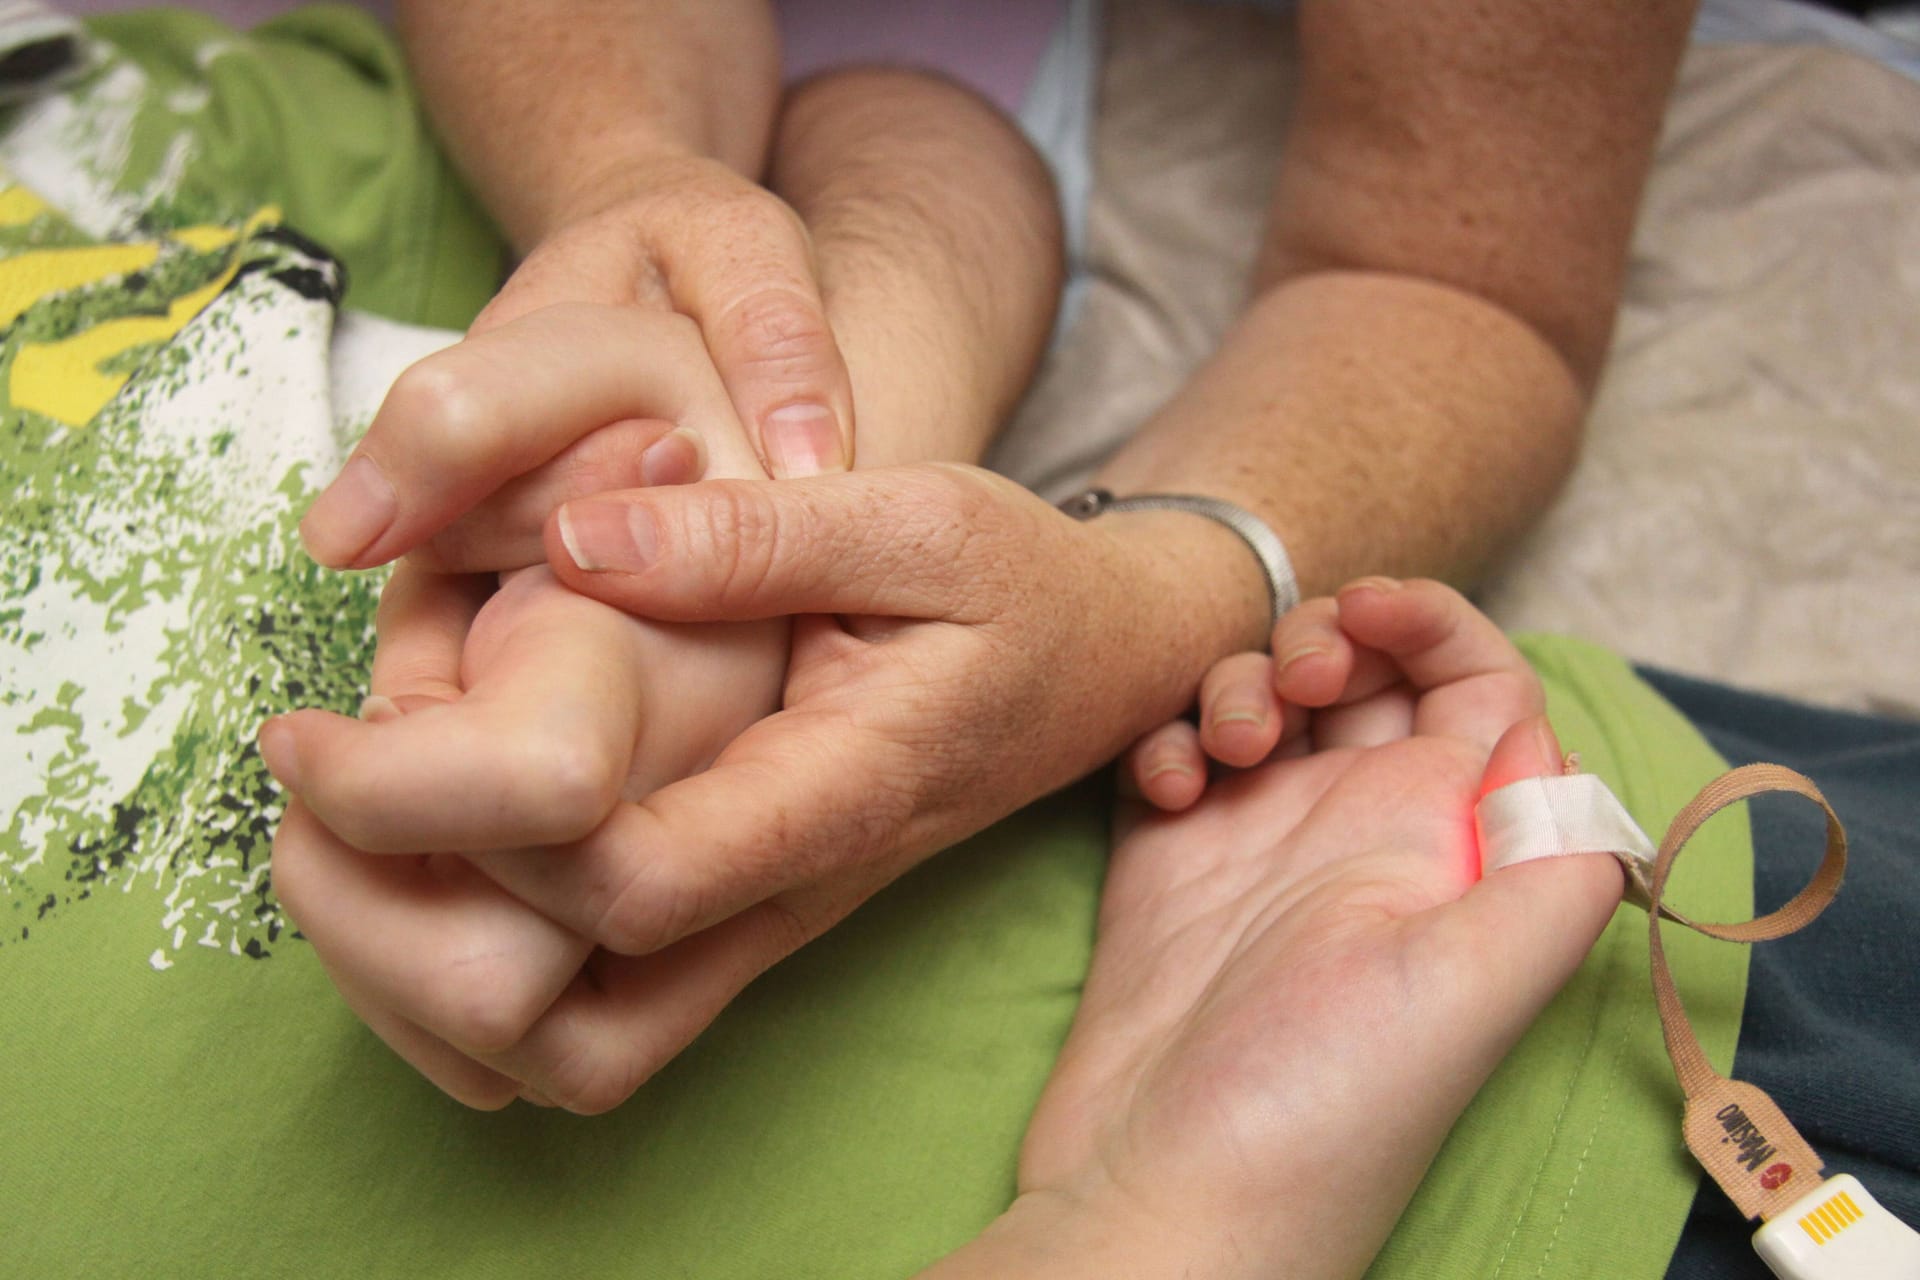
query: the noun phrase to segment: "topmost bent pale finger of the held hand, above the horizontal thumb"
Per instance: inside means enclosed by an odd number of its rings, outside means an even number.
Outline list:
[[[764,474],[693,320],[564,303],[401,372],[300,528],[332,568],[513,570],[572,497]]]

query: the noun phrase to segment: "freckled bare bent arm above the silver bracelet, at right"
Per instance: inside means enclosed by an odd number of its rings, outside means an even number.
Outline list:
[[[1306,0],[1256,299],[1102,484],[1254,509],[1309,595],[1473,581],[1572,464],[1692,10]],[[1187,537],[1244,645],[1246,553]]]

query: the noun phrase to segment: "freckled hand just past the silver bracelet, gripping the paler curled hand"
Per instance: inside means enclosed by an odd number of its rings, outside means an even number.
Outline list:
[[[660,532],[653,568],[624,574],[580,570],[549,528],[570,587],[660,618],[816,616],[793,628],[783,710],[574,844],[463,850],[428,860],[463,862],[428,883],[417,860],[355,854],[290,808],[275,856],[309,850],[294,860],[338,871],[311,877],[307,910],[336,908],[365,940],[367,965],[334,965],[342,990],[474,1105],[522,1090],[618,1105],[760,971],[918,858],[1171,714],[1212,656],[1179,658],[1204,608],[1167,606],[1194,578],[1167,551],[1187,532],[1177,516],[1173,530],[1077,524],[972,468],[707,482],[566,510],[582,553],[609,566],[603,516],[632,530],[641,512]],[[449,618],[442,629],[461,633]],[[355,754],[334,752],[334,768]],[[298,762],[296,791],[317,791],[315,768]],[[566,938],[599,946],[578,975]]]

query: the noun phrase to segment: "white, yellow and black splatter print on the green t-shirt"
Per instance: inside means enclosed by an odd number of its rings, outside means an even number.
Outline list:
[[[196,221],[161,169],[129,215],[102,178],[129,75],[0,140],[15,171],[65,154],[52,186],[86,205],[0,175],[0,946],[138,894],[169,969],[290,929],[253,735],[359,700],[378,593],[307,560],[294,524],[409,342],[442,338],[336,349],[340,269],[271,209]]]

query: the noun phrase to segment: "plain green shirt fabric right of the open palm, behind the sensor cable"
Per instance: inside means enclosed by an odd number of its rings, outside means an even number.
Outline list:
[[[1726,762],[1619,656],[1523,637],[1567,750],[1607,779],[1655,841]],[[1743,808],[1709,821],[1672,877],[1695,919],[1753,913]],[[1693,1029],[1722,1073],[1747,992],[1747,948],[1663,931]],[[1500,946],[1500,938],[1488,938]],[[1680,1144],[1682,1096],[1661,1042],[1647,917],[1620,908],[1586,965],[1461,1117],[1375,1280],[1419,1276],[1663,1276],[1699,1169]]]

